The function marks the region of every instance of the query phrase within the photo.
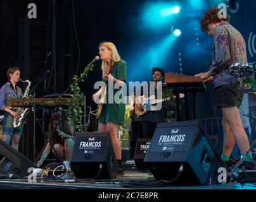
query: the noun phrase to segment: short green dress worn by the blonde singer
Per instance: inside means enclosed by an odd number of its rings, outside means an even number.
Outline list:
[[[118,61],[115,62],[112,70],[112,76],[117,80],[126,81],[126,74],[127,74],[127,67],[125,61]],[[114,84],[115,85],[115,84]],[[122,90],[122,89],[121,89]],[[113,104],[108,103],[108,87],[106,88],[106,104],[103,105],[103,109],[101,110],[101,115],[99,116],[99,122],[106,123],[112,122],[115,124],[124,125],[125,119],[125,103],[124,103],[124,94],[120,93],[120,90],[114,89],[113,95],[118,93],[120,96],[119,98],[122,100],[120,104],[115,102],[114,98],[110,98],[113,100]]]

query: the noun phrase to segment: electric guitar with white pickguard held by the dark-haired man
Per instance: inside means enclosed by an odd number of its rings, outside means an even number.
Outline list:
[[[183,98],[184,94],[179,94],[179,98]],[[139,98],[143,110],[139,110],[137,105],[134,105],[134,112],[137,116],[144,116],[146,113],[149,111],[157,111],[161,110],[162,107],[160,108],[159,105],[157,105],[160,102],[165,102],[170,100],[170,97],[163,98],[163,99],[156,99],[155,95],[151,95],[149,98],[144,98],[144,95]]]

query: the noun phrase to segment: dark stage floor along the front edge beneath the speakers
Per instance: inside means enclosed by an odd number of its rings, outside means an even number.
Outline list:
[[[211,190],[211,189],[256,189],[256,185],[240,183],[215,184],[212,186],[165,186],[165,187],[125,187],[120,182],[147,180],[148,173],[134,170],[126,170],[124,175],[120,175],[114,180],[95,180],[85,182],[56,182],[56,179],[47,179],[44,182],[29,182],[27,177],[22,179],[0,179],[0,189],[144,189],[144,190],[161,190],[161,189],[193,189],[193,190]]]

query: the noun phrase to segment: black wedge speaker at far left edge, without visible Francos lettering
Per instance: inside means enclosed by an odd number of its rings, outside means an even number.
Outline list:
[[[0,140],[0,173],[15,174],[20,177],[29,175],[29,168],[36,167],[35,163],[12,146]]]

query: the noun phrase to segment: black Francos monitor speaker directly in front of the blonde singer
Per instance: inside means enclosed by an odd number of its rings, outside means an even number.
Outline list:
[[[76,133],[70,165],[78,179],[113,179],[117,160],[109,132]],[[102,169],[99,172],[99,167]]]

